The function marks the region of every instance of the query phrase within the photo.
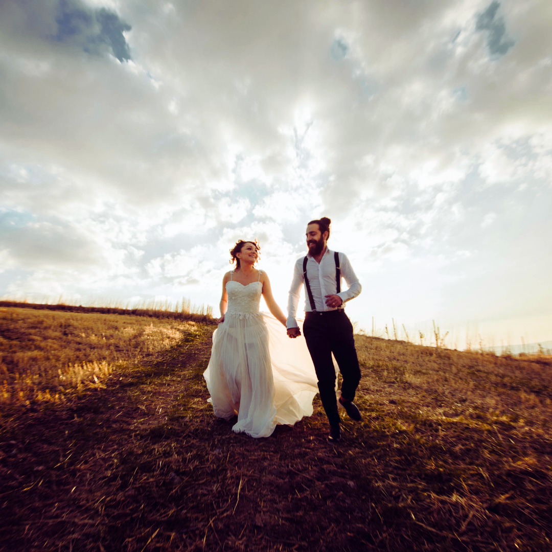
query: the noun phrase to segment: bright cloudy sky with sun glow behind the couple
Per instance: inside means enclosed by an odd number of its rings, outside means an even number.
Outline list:
[[[0,0],[0,296],[189,298],[305,228],[357,328],[552,339],[549,0]],[[390,330],[391,331],[391,330]]]

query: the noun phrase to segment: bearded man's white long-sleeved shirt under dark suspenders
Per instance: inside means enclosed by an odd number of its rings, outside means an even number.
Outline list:
[[[299,305],[299,293],[303,285],[304,258],[297,259],[293,269],[293,281],[291,282],[288,299],[288,321],[286,323],[286,327],[288,328],[298,327],[295,315]],[[360,293],[362,287],[345,253],[339,253],[339,269],[349,289],[336,294],[336,262],[333,258],[333,251],[326,249],[326,253],[323,254],[320,264],[315,261],[314,257],[307,254],[307,278],[309,279],[312,299],[314,299],[317,312],[337,310],[326,305],[326,295],[338,295],[344,304]],[[310,312],[311,310],[309,295],[305,290],[305,312]]]

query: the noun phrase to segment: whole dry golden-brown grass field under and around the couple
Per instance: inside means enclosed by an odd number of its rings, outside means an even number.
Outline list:
[[[254,440],[206,402],[212,324],[0,314],[6,550],[552,549],[550,359],[357,336],[363,421],[328,445],[316,397]]]

